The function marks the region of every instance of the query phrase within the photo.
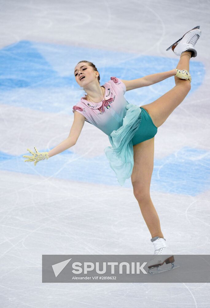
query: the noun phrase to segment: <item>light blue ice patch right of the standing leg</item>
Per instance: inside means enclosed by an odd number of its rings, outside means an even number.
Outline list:
[[[184,147],[154,162],[152,190],[196,196],[209,188],[209,151]]]

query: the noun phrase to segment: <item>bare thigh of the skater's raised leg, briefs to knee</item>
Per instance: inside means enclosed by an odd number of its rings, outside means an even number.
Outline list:
[[[187,81],[187,80],[185,80]],[[150,104],[140,106],[150,115],[156,127],[161,126],[190,90],[190,82],[178,84]]]

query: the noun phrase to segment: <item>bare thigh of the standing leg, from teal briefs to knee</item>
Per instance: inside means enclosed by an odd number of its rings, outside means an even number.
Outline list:
[[[154,166],[154,137],[134,145],[134,167],[131,182],[138,198],[150,195],[150,183]]]

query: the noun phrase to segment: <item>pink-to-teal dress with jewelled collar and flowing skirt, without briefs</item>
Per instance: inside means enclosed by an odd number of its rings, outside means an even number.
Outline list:
[[[142,110],[126,101],[126,86],[121,79],[111,77],[103,87],[105,95],[101,102],[92,103],[81,98],[72,111],[81,113],[85,121],[108,135],[111,147],[105,148],[104,152],[122,186],[125,180],[130,178],[133,170],[132,138],[141,123]]]

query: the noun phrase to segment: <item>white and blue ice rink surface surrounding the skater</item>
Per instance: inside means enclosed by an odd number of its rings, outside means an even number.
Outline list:
[[[155,136],[151,198],[174,254],[210,254],[209,1],[0,1],[1,307],[204,308],[209,283],[41,282],[43,254],[153,254],[130,179],[121,187],[85,122],[75,146],[25,163],[68,137],[84,95],[73,75],[95,64],[100,84],[168,71],[166,49],[200,25],[191,91]],[[142,106],[174,78],[128,91]],[[196,270],[196,269],[195,269]]]

